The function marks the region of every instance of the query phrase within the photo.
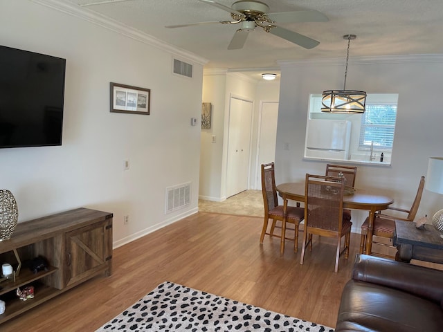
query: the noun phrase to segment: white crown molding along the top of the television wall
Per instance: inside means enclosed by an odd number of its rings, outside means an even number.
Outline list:
[[[201,64],[202,66],[208,63],[208,59],[205,59],[204,57],[199,57],[198,55],[190,53],[187,50],[183,50],[181,48],[178,48],[177,46],[165,43],[163,40],[147,35],[146,33],[143,33],[134,28],[129,28],[128,26],[125,26],[124,24],[121,24],[118,21],[100,15],[87,8],[77,6],[74,3],[68,2],[66,0],[31,0],[31,1],[39,5],[51,8],[53,10],[63,12],[64,14],[71,15],[73,17],[78,17],[79,19],[83,19],[85,21],[89,21],[93,24],[96,24],[97,26],[101,26],[102,28],[106,28],[108,30],[114,31],[115,33],[119,33],[120,35],[124,35],[126,37],[135,39],[138,42],[142,42],[144,44],[154,46],[161,50],[165,50],[168,53],[178,55],[179,57],[185,57],[186,59],[189,59],[191,62]]]

